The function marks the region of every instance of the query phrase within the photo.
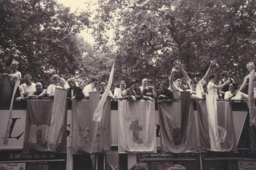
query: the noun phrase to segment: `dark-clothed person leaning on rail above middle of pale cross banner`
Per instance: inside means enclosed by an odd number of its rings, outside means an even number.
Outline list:
[[[126,89],[126,94],[124,95],[125,99],[132,100],[132,101],[138,101],[143,99],[141,89],[137,87],[138,81],[132,79],[130,81],[130,88]]]

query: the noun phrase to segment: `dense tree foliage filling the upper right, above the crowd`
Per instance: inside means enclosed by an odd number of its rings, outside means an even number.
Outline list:
[[[205,73],[211,59],[238,81],[255,61],[253,1],[100,1],[96,39],[115,30],[117,78],[166,78],[179,58],[189,72]],[[221,70],[216,70],[221,73]]]

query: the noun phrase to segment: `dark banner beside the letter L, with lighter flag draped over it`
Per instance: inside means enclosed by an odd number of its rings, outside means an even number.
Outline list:
[[[66,90],[55,98],[27,101],[25,152],[61,152],[66,148]]]

